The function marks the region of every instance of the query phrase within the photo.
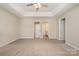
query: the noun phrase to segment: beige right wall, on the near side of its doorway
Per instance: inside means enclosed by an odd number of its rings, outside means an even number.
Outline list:
[[[79,5],[76,5],[59,17],[66,18],[65,40],[66,44],[79,49]]]

